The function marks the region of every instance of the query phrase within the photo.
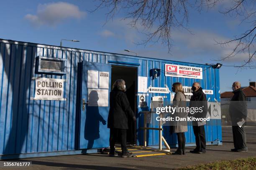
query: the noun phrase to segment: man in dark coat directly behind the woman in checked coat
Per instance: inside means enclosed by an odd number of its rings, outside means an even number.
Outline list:
[[[202,107],[202,112],[196,112],[194,114],[190,114],[190,116],[197,117],[197,118],[204,118],[206,117],[207,114],[207,100],[206,100],[206,95],[202,91],[202,87],[200,87],[199,82],[194,82],[192,85],[191,90],[193,91],[193,95],[190,99],[189,102],[189,107],[197,107],[200,108]],[[205,147],[206,147],[206,141],[205,141],[205,127],[204,125],[206,122],[196,122],[193,121],[193,131],[195,135],[195,140],[196,140],[196,148],[194,150],[190,150],[190,153],[206,153]]]

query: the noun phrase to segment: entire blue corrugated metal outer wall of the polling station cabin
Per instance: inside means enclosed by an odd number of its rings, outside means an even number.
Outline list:
[[[36,75],[36,56],[59,57],[67,59],[67,74]],[[81,61],[108,63],[108,60],[139,63],[138,76],[149,77],[149,70],[158,67],[164,70],[165,63],[185,64],[145,57],[126,56],[104,52],[71,49],[48,45],[38,45],[26,42],[0,40],[0,154],[36,153],[50,151],[75,150],[75,123],[77,97],[77,65]],[[205,65],[186,64],[200,66]],[[48,77],[66,79],[64,97],[66,101],[30,100],[35,93],[35,80],[32,77]],[[148,85],[154,87],[172,86],[174,82],[182,82],[191,86],[200,81],[205,89],[213,90],[214,95],[207,95],[210,101],[220,100],[219,72],[217,69],[207,69],[202,80],[165,77],[164,73],[158,79],[148,78]],[[152,94],[146,96],[150,103]],[[161,94],[163,95],[163,94]],[[170,94],[166,94],[166,100]],[[141,108],[138,108],[138,112]],[[138,115],[138,126],[141,124]],[[219,120],[211,120],[219,121]],[[221,140],[221,124],[208,124],[207,141]],[[176,143],[176,138],[170,136],[169,130],[164,136],[169,142]],[[195,143],[192,128],[186,133],[187,143]],[[138,131],[138,144],[142,144],[142,132]],[[158,132],[148,131],[148,144],[158,144]]]

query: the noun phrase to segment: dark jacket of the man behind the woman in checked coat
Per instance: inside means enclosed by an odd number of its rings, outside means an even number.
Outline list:
[[[207,106],[206,95],[202,91],[202,87],[200,87],[197,91],[192,92],[192,93],[193,93],[193,95],[190,99],[189,107],[198,107],[198,108],[202,107],[202,112],[197,112],[197,113],[194,113],[194,114],[190,114],[190,116],[206,117],[208,106]]]

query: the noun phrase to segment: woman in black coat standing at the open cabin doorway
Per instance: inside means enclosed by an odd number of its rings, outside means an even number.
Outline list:
[[[108,114],[108,128],[110,128],[110,156],[118,156],[115,153],[115,142],[120,137],[122,157],[131,157],[126,148],[126,131],[128,129],[128,117],[136,121],[131,110],[127,96],[125,95],[125,81],[116,80],[110,92],[110,109]]]

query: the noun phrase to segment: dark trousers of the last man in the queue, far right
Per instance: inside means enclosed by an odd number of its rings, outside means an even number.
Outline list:
[[[244,131],[244,127],[242,126],[240,128],[239,126],[232,126],[232,131],[234,147],[236,149],[247,150],[248,148],[246,145],[246,133]]]

